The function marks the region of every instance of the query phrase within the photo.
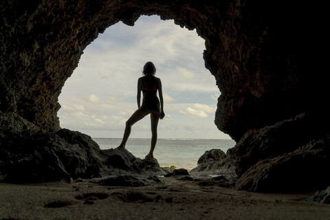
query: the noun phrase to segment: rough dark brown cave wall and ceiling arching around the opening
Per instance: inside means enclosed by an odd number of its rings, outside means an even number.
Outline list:
[[[203,57],[221,91],[215,124],[234,140],[302,112],[320,113],[327,2],[1,1],[1,129],[60,129],[58,96],[83,50],[118,21],[174,19],[206,40]],[[28,125],[27,125],[28,124]]]

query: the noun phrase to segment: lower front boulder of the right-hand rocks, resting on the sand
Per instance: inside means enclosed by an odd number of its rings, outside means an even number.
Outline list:
[[[329,186],[330,140],[314,140],[292,153],[254,164],[236,181],[236,189],[294,192]]]

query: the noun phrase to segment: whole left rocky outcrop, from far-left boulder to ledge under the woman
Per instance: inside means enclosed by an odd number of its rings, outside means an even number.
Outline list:
[[[144,184],[149,175],[162,174],[157,159],[140,159],[129,151],[100,150],[91,137],[61,129],[56,133],[19,133],[0,137],[0,175],[10,183],[133,176]],[[126,186],[126,185],[125,185]],[[140,186],[140,185],[139,185]]]

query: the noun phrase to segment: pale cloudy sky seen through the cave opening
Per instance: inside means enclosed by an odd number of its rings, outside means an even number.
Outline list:
[[[205,41],[195,30],[142,16],[133,27],[116,23],[84,50],[58,102],[62,128],[91,137],[122,137],[137,109],[137,79],[146,62],[162,80],[164,120],[158,138],[230,139],[214,124],[220,91],[203,61]],[[135,123],[133,138],[151,137],[150,117]]]

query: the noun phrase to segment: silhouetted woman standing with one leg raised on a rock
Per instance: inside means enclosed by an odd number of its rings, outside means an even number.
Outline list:
[[[127,120],[124,137],[122,137],[122,143],[118,148],[125,148],[125,144],[131,134],[131,126],[135,122],[144,118],[144,116],[150,113],[151,118],[151,148],[147,157],[153,158],[153,150],[155,149],[157,142],[157,124],[160,119],[165,116],[164,102],[162,94],[162,82],[159,78],[155,77],[156,67],[151,62],[147,62],[143,67],[143,75],[137,80],[137,107],[138,109],[131,115],[131,118]],[[159,99],[157,97],[157,90]],[[140,105],[141,91],[143,94],[142,105]],[[160,104],[159,104],[160,100]],[[159,106],[160,105],[160,106]]]

